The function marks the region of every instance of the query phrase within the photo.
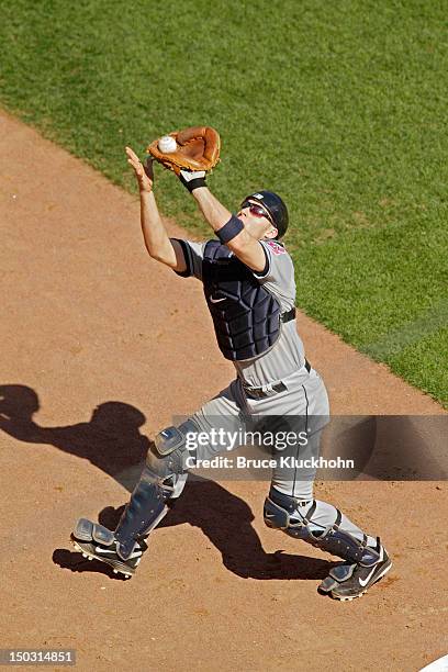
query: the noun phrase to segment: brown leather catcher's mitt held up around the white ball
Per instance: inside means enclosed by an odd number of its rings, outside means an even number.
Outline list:
[[[176,175],[181,170],[208,171],[220,160],[220,134],[211,126],[192,126],[169,135],[177,143],[175,152],[160,152],[158,139],[149,145],[147,152]]]

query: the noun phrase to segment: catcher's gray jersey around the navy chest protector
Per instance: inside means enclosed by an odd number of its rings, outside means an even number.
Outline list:
[[[202,280],[202,259],[205,242],[188,244],[188,267],[192,275]],[[295,303],[294,267],[290,255],[284,247],[276,240],[260,240],[266,256],[266,272],[254,272],[254,277],[271,294],[278,299],[282,312],[289,311]],[[304,363],[304,349],[300,339],[295,322],[287,322],[281,325],[281,333],[276,344],[262,355],[233,362],[239,378],[250,387],[262,387],[277,382],[291,376]]]

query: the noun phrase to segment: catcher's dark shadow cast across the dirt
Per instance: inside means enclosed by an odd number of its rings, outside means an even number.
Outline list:
[[[0,385],[0,429],[21,441],[48,444],[87,459],[130,492],[133,490],[150,446],[149,439],[139,433],[146,419],[143,413],[122,402],[107,402],[94,408],[87,423],[42,427],[33,419],[38,408],[37,394],[31,388]],[[104,508],[100,522],[114,529],[122,509]],[[238,576],[322,579],[327,575],[333,563],[326,560],[282,551],[266,553],[253,520],[250,507],[238,496],[213,481],[197,479],[187,483],[161,526],[189,523],[200,527],[222,553],[224,565]],[[75,572],[96,571],[116,576],[108,565],[87,561],[80,553],[66,549],[56,549],[53,560]]]

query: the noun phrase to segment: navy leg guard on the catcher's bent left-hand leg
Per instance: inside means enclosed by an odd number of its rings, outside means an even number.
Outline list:
[[[186,435],[190,432],[199,432],[191,419],[179,427],[168,427],[157,435],[154,448],[149,449],[145,469],[115,529],[117,553],[123,560],[168,513],[166,501],[182,492],[187,480]]]

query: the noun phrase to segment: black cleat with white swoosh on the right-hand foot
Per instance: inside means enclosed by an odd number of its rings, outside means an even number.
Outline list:
[[[379,560],[374,564],[369,567],[359,562],[338,564],[331,570],[328,576],[324,579],[317,590],[340,601],[349,601],[363,595],[392,567],[392,561],[380,539],[377,541],[376,550],[379,553]]]

